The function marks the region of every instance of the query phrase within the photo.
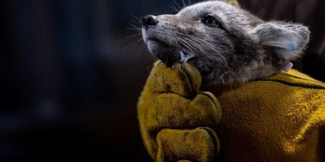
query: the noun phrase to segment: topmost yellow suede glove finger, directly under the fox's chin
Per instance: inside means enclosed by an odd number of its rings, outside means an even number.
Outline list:
[[[176,93],[188,98],[198,91],[202,79],[199,71],[188,63],[177,63],[170,68],[157,61],[148,81],[154,92]]]

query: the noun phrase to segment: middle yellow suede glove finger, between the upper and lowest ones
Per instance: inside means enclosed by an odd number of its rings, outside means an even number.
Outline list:
[[[161,93],[153,97],[148,109],[147,128],[152,135],[161,128],[215,127],[221,119],[221,105],[208,92],[199,92],[193,100],[174,93]]]

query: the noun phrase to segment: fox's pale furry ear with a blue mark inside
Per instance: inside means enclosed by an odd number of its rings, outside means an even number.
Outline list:
[[[300,56],[309,41],[309,33],[308,27],[281,21],[260,24],[252,31],[260,44],[273,47],[287,61]]]

